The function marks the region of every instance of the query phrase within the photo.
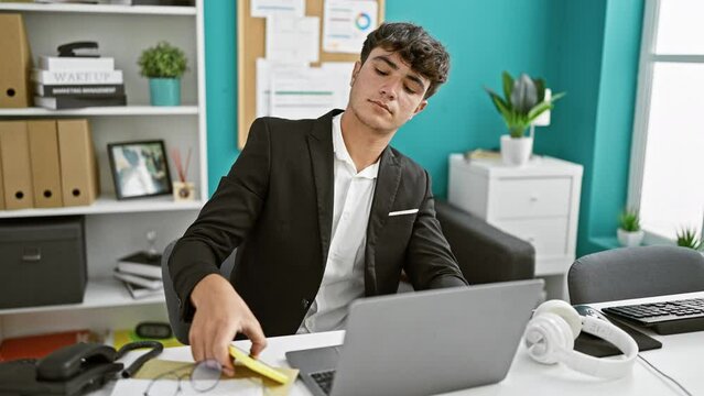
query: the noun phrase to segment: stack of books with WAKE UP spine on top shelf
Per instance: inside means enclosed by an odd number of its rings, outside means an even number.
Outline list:
[[[126,106],[122,70],[110,57],[40,56],[34,105],[47,109]]]

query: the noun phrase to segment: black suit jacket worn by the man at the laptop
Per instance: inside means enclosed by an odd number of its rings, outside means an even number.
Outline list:
[[[317,120],[257,119],[247,145],[169,266],[183,319],[189,295],[238,248],[230,282],[264,334],[295,333],[315,300],[332,238],[334,110]],[[419,209],[389,217],[389,212]],[[361,215],[364,216],[364,215]],[[415,289],[466,285],[435,219],[427,173],[388,146],[367,227],[367,296],[397,292],[404,270]]]

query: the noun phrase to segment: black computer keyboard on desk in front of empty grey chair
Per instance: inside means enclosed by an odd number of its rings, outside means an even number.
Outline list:
[[[704,330],[704,298],[608,307],[606,315],[652,329],[658,334]]]

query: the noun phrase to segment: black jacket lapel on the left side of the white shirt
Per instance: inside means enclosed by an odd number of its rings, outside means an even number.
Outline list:
[[[308,134],[308,151],[313,167],[313,179],[317,196],[317,221],[321,231],[321,248],[325,267],[327,251],[333,233],[333,204],[335,194],[335,174],[333,170],[333,117],[342,110],[333,110],[315,120],[313,130]]]

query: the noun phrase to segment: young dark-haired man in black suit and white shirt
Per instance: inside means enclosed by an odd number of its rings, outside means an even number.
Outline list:
[[[237,334],[343,328],[349,304],[397,292],[466,285],[435,219],[427,172],[389,146],[445,82],[450,56],[422,28],[369,34],[347,109],[317,120],[261,118],[170,271],[196,361],[232,373]],[[230,279],[218,266],[237,248]]]

